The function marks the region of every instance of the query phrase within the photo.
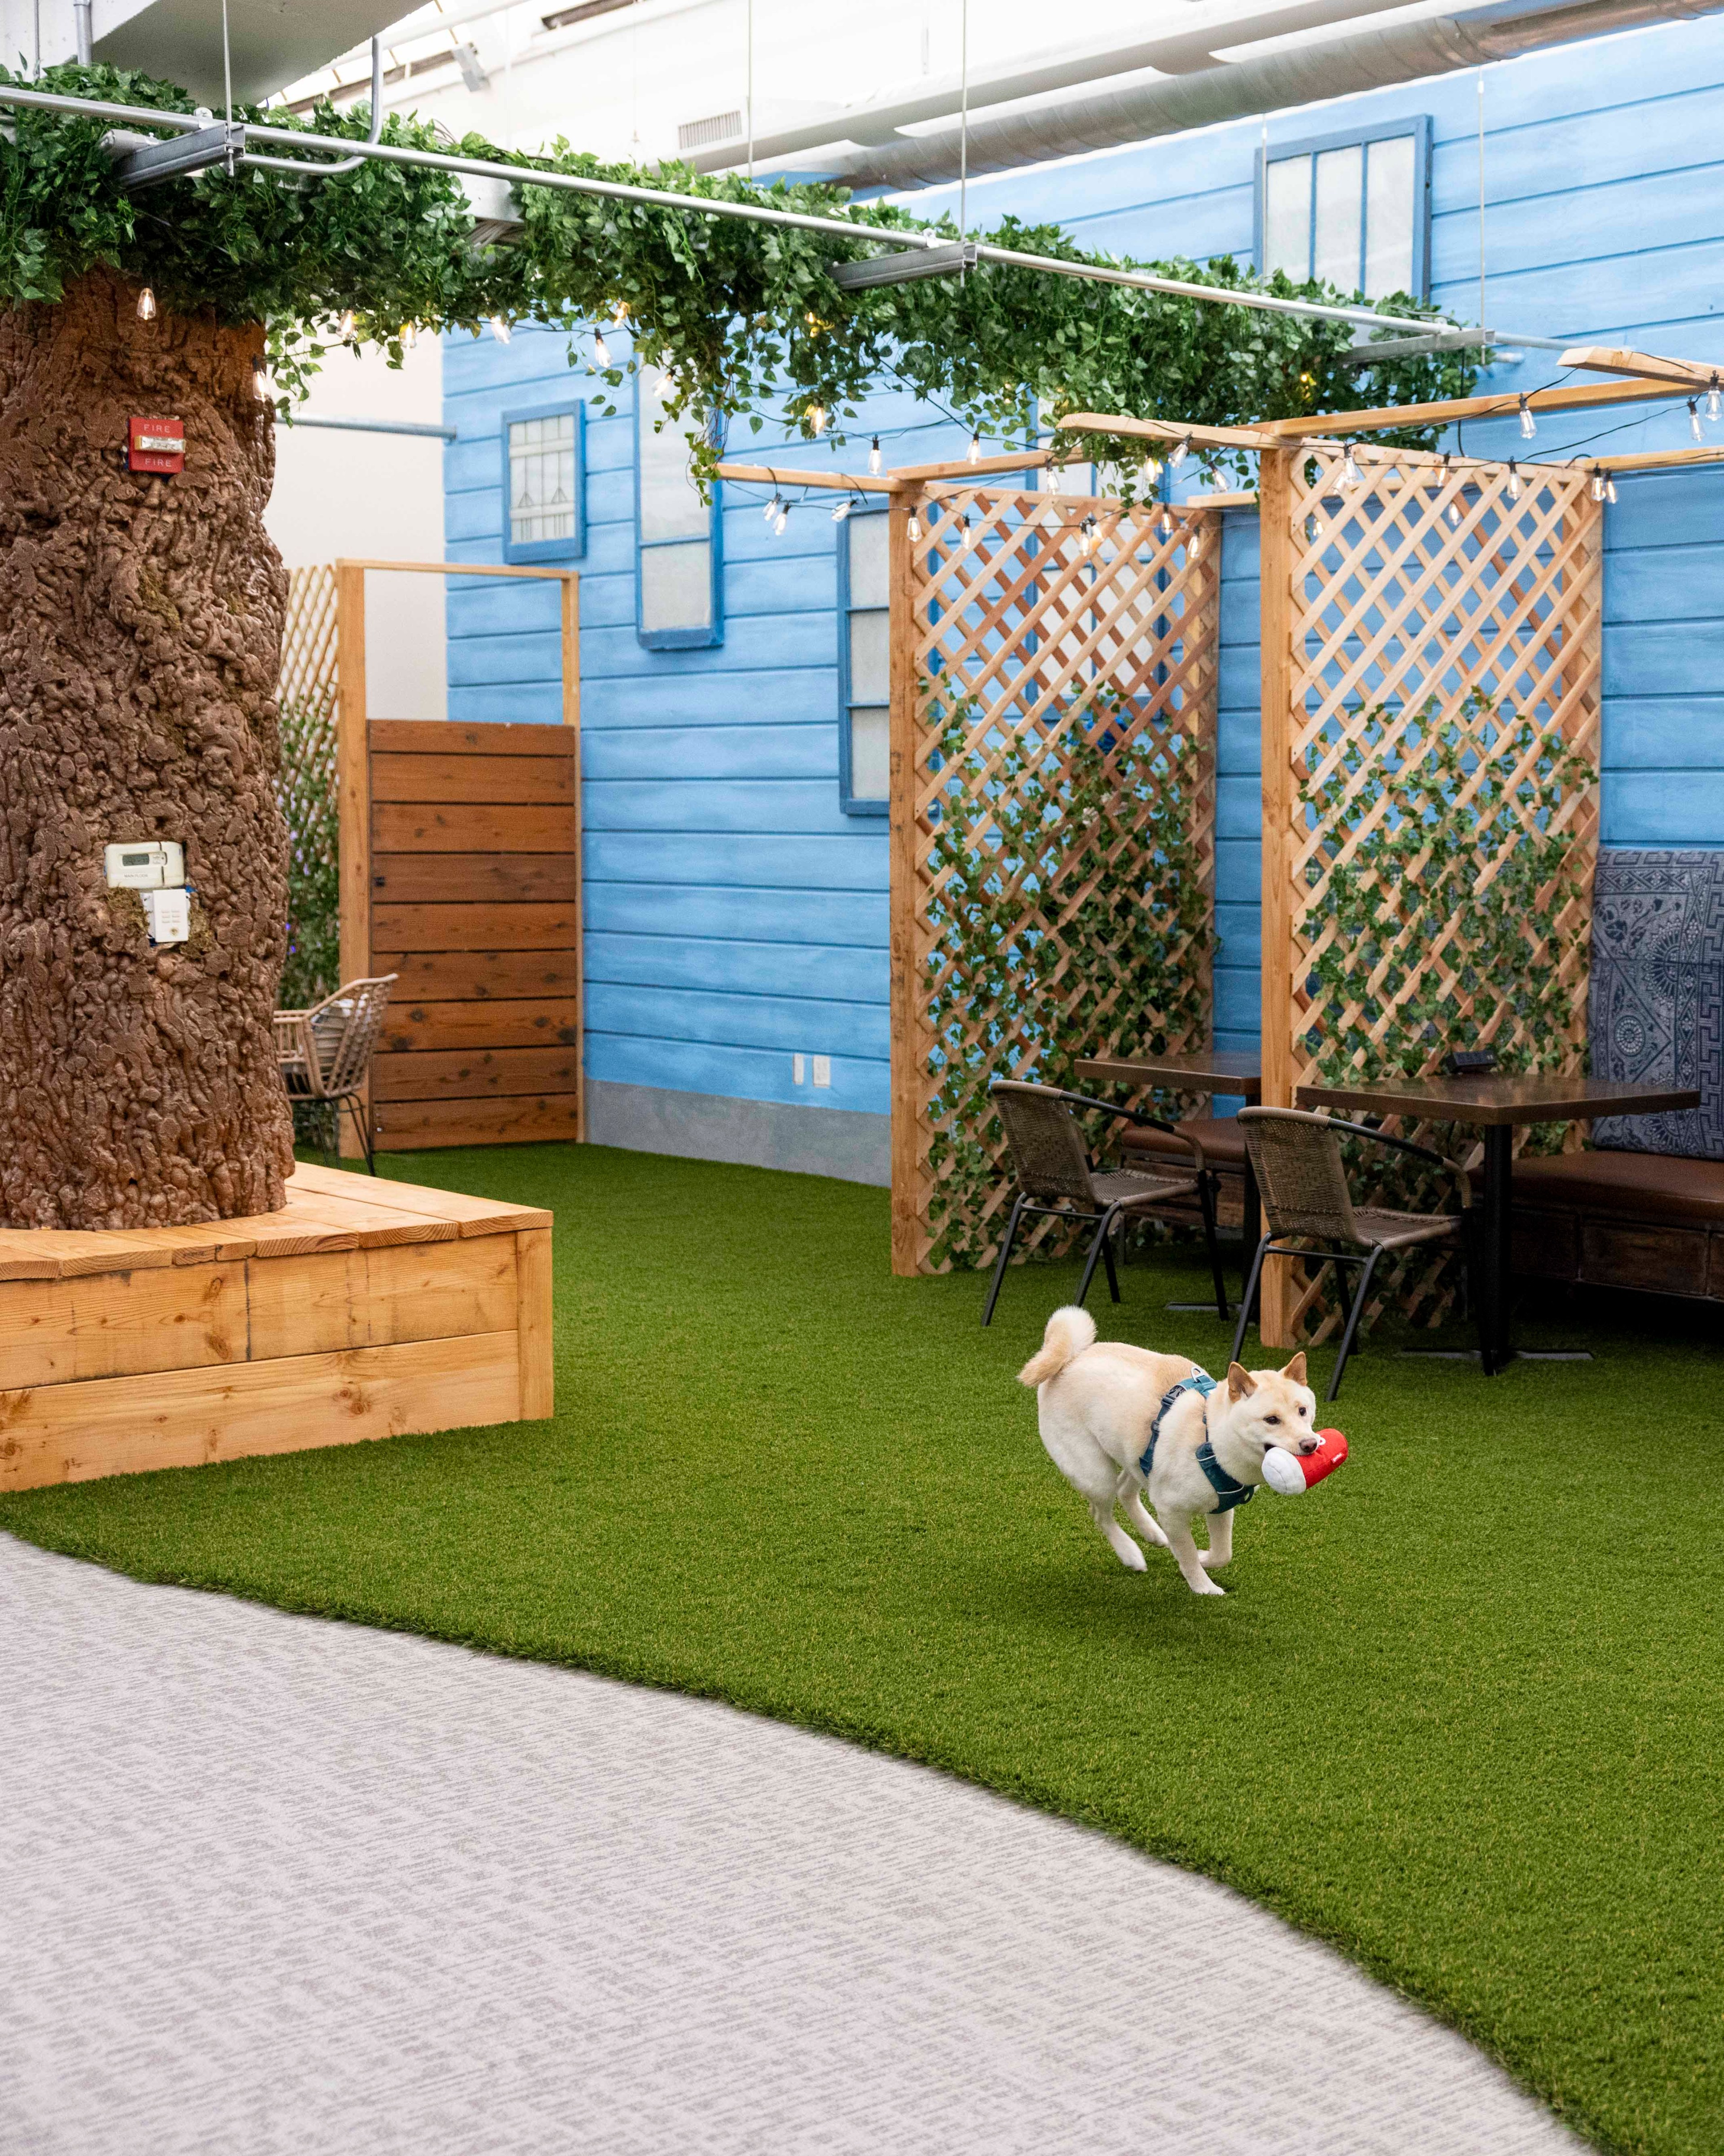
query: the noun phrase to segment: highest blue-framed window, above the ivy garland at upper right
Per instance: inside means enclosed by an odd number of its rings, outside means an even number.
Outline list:
[[[1256,153],[1256,259],[1366,300],[1431,289],[1431,121]]]

